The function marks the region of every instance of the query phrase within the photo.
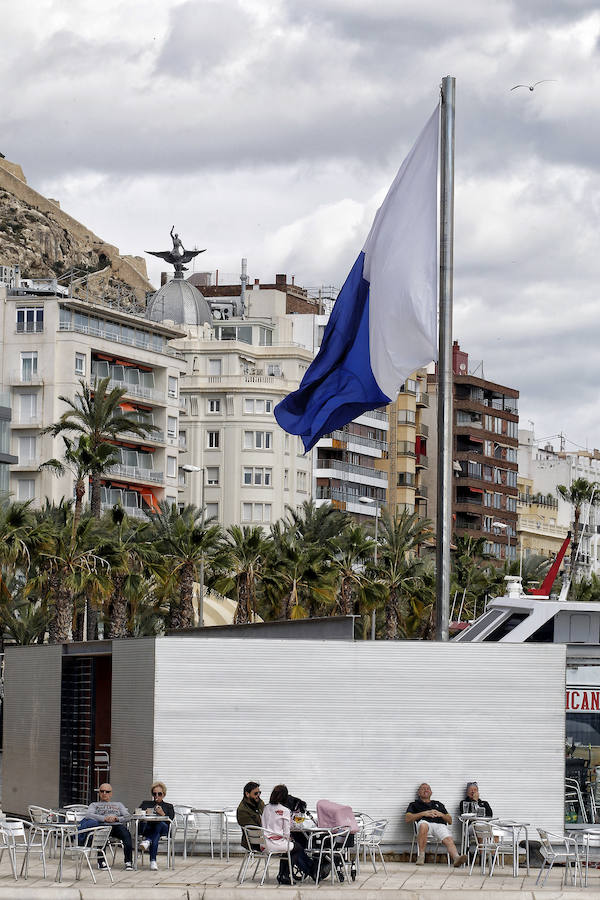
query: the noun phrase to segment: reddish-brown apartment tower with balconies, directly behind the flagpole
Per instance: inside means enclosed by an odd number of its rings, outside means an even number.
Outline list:
[[[469,356],[452,348],[453,532],[485,539],[485,552],[499,560],[517,555],[517,449],[519,392],[469,373]],[[436,515],[437,375],[428,375],[429,459],[424,481]]]

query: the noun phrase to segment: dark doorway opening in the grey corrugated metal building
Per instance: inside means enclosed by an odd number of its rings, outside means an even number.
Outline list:
[[[110,779],[110,656],[63,659],[60,805],[97,799],[96,782]]]

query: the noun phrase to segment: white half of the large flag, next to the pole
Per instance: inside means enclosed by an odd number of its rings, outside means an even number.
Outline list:
[[[375,381],[392,400],[437,359],[439,106],[402,163],[364,246]]]

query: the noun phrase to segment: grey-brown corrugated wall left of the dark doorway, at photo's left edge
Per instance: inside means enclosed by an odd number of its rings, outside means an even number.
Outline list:
[[[2,808],[59,803],[62,645],[7,647]],[[10,685],[10,688],[9,688]]]

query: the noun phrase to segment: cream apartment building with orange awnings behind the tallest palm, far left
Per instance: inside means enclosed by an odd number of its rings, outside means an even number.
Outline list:
[[[5,267],[9,268],[9,267]],[[7,279],[8,281],[8,279]],[[13,411],[10,491],[18,500],[41,504],[73,496],[73,477],[39,471],[40,463],[61,458],[62,438],[42,434],[66,410],[61,395],[73,397],[81,380],[109,377],[124,388],[122,409],[157,426],[145,438],[123,434],[120,462],[102,485],[103,505],[121,503],[133,516],[179,497],[179,412],[183,360],[169,342],[180,329],[151,322],[117,303],[71,297],[53,279],[13,277],[0,285],[3,356],[0,392]]]

